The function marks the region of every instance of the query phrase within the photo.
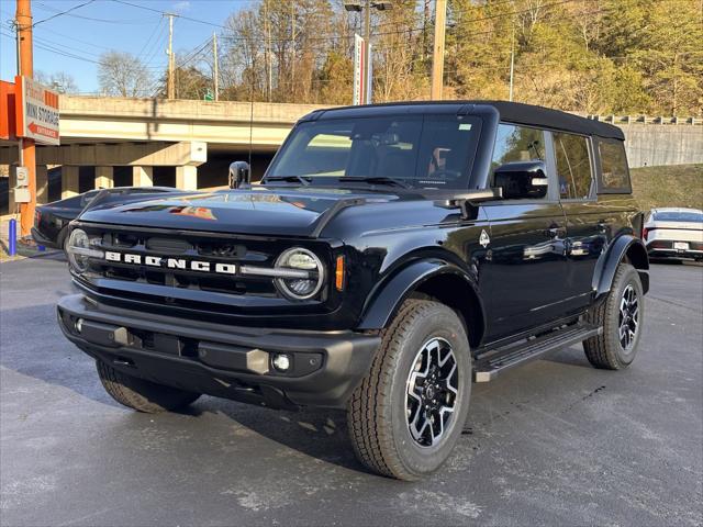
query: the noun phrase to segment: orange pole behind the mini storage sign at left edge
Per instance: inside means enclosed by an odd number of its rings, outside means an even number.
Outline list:
[[[34,77],[32,59],[32,4],[31,0],[16,0],[15,24],[18,31],[18,75]],[[34,139],[20,138],[20,166],[29,171],[30,201],[20,203],[20,234],[29,236],[34,224],[36,206],[36,148]],[[13,212],[13,211],[10,211]]]

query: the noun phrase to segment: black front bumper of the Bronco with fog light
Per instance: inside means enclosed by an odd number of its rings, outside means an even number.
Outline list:
[[[81,294],[60,299],[57,314],[70,341],[124,373],[272,407],[344,407],[380,344],[378,335],[355,332],[234,327],[156,315]],[[277,354],[291,362],[286,372],[274,367]]]

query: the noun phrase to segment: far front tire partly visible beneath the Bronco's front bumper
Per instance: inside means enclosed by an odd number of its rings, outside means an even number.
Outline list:
[[[147,414],[182,408],[200,394],[165,386],[137,377],[127,375],[97,360],[98,374],[105,391],[118,403]]]

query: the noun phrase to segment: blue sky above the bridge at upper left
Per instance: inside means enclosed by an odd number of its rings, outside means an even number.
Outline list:
[[[227,16],[252,3],[250,0],[32,0],[34,19],[34,69],[46,75],[70,74],[80,93],[94,93],[98,64],[102,53],[111,49],[130,52],[160,75],[167,65],[168,19],[159,12],[171,12],[174,49],[190,51],[219,32]],[[63,11],[69,13],[55,16]],[[16,55],[12,21],[14,0],[0,0],[0,78],[13,80]],[[148,9],[146,9],[148,8]],[[155,11],[159,12],[155,12]],[[194,20],[197,19],[200,22]],[[214,24],[214,25],[210,25]]]

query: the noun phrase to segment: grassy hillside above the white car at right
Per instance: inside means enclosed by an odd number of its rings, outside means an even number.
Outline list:
[[[643,211],[652,206],[703,210],[703,165],[633,168],[631,173],[633,192]]]

